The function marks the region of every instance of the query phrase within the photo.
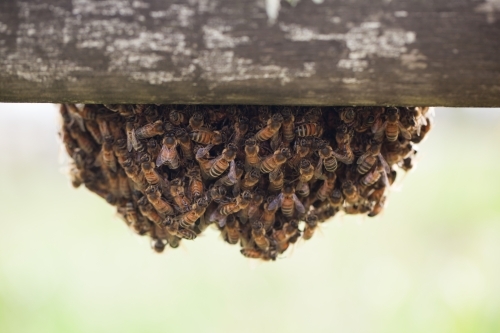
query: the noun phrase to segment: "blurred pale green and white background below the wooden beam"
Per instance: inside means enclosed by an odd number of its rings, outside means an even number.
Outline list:
[[[69,185],[53,105],[0,104],[0,332],[499,332],[500,110],[437,109],[377,218],[256,263],[154,253]]]

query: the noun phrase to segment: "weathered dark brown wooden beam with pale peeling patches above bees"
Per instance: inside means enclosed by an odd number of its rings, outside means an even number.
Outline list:
[[[500,106],[500,0],[276,4],[2,1],[0,101]]]

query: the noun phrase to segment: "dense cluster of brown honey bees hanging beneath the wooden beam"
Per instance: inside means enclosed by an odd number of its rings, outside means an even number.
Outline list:
[[[275,260],[339,214],[378,215],[431,128],[427,107],[62,104],[74,187],[117,207],[152,248],[212,225]]]

